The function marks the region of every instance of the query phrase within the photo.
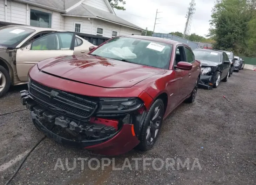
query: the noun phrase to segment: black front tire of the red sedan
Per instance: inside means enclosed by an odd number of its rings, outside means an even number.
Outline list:
[[[157,119],[159,119],[159,126],[157,127],[158,131],[157,131],[157,134],[155,135],[154,139],[152,141],[150,141],[150,143],[149,143],[147,141],[147,136],[148,136],[147,131],[149,129],[149,132],[150,132],[150,136],[149,136],[150,138],[149,139],[151,140],[151,131],[150,131],[151,126],[150,126],[150,124],[152,123],[151,119],[154,118],[155,109],[157,107],[161,107],[161,109],[162,109],[162,111],[159,113],[159,116],[161,118],[157,117]],[[137,145],[135,147],[135,149],[142,150],[142,151],[148,151],[154,146],[154,144],[155,144],[155,142],[156,142],[156,140],[159,136],[159,133],[160,133],[161,125],[162,125],[162,122],[163,122],[163,116],[164,116],[163,113],[164,113],[163,101],[162,101],[162,99],[156,99],[156,101],[153,103],[153,105],[151,105],[151,107],[150,107],[150,109],[149,109],[149,111],[148,111],[148,113],[147,113],[147,115],[146,115],[146,117],[143,121],[143,125],[142,125],[142,128],[141,128],[141,133],[140,133],[140,136],[139,136],[140,143],[139,143],[139,145]],[[152,127],[152,128],[156,128],[156,127]]]

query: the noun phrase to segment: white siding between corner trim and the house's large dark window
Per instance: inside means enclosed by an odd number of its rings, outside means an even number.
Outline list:
[[[26,12],[27,6],[25,3],[7,1],[7,22],[26,24]]]

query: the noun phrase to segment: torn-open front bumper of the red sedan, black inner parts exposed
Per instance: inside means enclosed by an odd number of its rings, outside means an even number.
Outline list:
[[[40,104],[26,90],[20,92],[20,98],[21,103],[31,111],[34,125],[58,143],[103,155],[123,154],[139,144],[137,136],[145,112],[133,119],[136,124],[96,117],[78,120]],[[123,120],[127,120],[127,115]]]

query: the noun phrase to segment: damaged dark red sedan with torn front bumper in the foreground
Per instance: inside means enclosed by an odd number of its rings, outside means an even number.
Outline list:
[[[39,62],[20,96],[49,138],[118,155],[153,147],[163,119],[194,102],[200,71],[186,44],[120,36],[86,55]]]

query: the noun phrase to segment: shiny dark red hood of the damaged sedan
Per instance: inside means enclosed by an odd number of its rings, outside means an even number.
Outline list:
[[[132,87],[164,69],[92,55],[56,57],[38,63],[48,74],[106,88]]]

